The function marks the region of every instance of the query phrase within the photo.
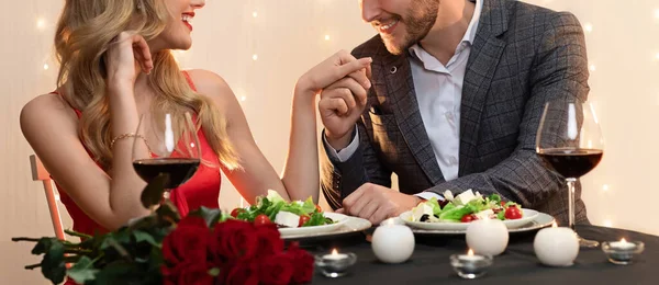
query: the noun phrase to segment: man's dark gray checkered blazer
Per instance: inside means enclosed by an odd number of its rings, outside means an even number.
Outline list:
[[[446,181],[437,164],[418,112],[410,55],[390,54],[375,36],[353,52],[373,58],[373,87],[357,124],[359,148],[345,162],[322,155],[321,186],[333,208],[366,182],[391,187],[395,172],[403,193],[499,193],[567,225],[567,185],[544,167],[535,139],[546,102],[587,100],[581,25],[566,12],[483,1],[462,88],[458,179]],[[588,223],[580,185],[576,201],[577,223]]]

